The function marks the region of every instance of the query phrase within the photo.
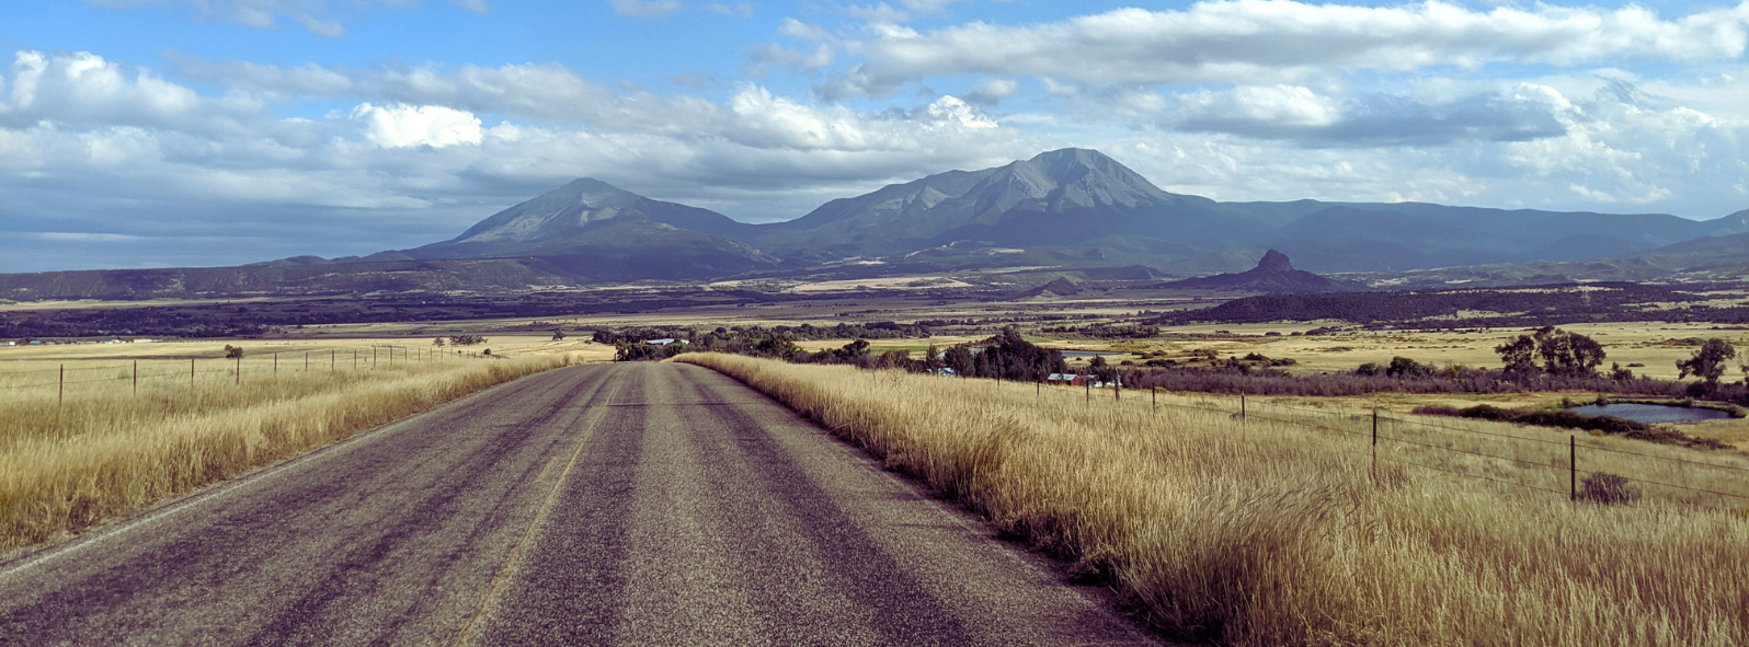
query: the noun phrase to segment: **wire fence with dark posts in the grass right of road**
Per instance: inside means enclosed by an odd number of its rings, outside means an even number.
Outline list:
[[[1602,446],[1600,441],[1592,437],[1590,432],[1567,434],[1567,439],[1557,441],[1438,421],[1397,418],[1385,414],[1382,407],[1310,409],[1289,404],[1258,402],[1254,399],[1247,399],[1245,395],[1230,397],[1165,390],[1109,390],[1111,397],[1095,397],[1093,388],[1084,388],[1086,406],[1095,406],[1095,400],[1102,399],[1112,400],[1114,406],[1133,404],[1137,399],[1135,395],[1140,395],[1142,406],[1156,411],[1161,407],[1198,411],[1224,414],[1242,421],[1268,421],[1315,432],[1333,432],[1343,437],[1357,437],[1368,442],[1362,451],[1371,451],[1371,463],[1375,470],[1380,462],[1396,463],[1464,479],[1488,481],[1501,486],[1565,495],[1574,502],[1627,502],[1641,495],[1641,491],[1634,488],[1639,486],[1669,490],[1677,495],[1674,498],[1695,505],[1733,502],[1740,509],[1742,504],[1749,504],[1749,479],[1746,479],[1746,474],[1749,474],[1749,467],[1746,465],[1749,463],[1742,463],[1740,453],[1726,455],[1726,451],[1719,451],[1721,462],[1707,462],[1697,460],[1698,456],[1660,456],[1648,451]],[[1130,395],[1126,400],[1125,393],[1135,395]],[[1161,395],[1167,395],[1168,399],[1161,400]],[[1195,400],[1182,402],[1184,397]],[[1417,453],[1420,456],[1417,456]],[[1471,463],[1450,462],[1441,465],[1438,456],[1460,456],[1471,460]],[[1733,465],[1725,462],[1737,463]],[[1497,465],[1515,467],[1516,472]],[[1641,467],[1641,470],[1635,472],[1634,467]],[[1558,486],[1555,483],[1558,483]],[[1726,486],[1719,488],[1721,483]],[[1707,500],[1709,497],[1721,497],[1723,500]]]

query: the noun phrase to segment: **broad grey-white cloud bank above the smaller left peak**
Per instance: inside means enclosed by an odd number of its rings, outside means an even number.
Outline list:
[[[224,79],[227,93],[203,96],[94,54],[26,51],[0,73],[0,231],[96,236],[0,247],[0,271],[66,269],[93,245],[110,266],[415,247],[575,177],[775,220],[1060,143],[1004,129],[953,98],[854,110],[743,84],[719,103],[614,89],[556,65],[350,70],[180,58],[178,68]],[[346,100],[353,108],[327,115],[276,114]],[[191,233],[250,243],[213,248]],[[72,254],[77,245],[84,252]]]

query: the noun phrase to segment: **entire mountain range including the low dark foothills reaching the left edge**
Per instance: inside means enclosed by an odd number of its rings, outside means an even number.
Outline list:
[[[427,289],[1041,266],[1203,276],[1245,271],[1265,250],[1317,273],[1450,275],[1436,268],[1481,266],[1494,268],[1478,269],[1488,276],[1572,276],[1595,266],[1588,259],[1609,259],[1607,271],[1646,278],[1697,264],[1749,266],[1749,210],[1688,220],[1429,203],[1221,203],[1163,191],[1098,150],[1062,149],[892,184],[773,224],[743,224],[579,178],[446,241],[362,259],[294,257],[229,269],[261,275],[240,283],[261,287],[278,276],[315,290],[359,283],[322,276],[385,271],[436,273],[415,282]],[[1513,269],[1539,264],[1548,271]],[[54,280],[0,275],[0,296],[175,296],[178,285],[189,290],[192,276],[226,283],[217,269],[47,273],[68,275]]]

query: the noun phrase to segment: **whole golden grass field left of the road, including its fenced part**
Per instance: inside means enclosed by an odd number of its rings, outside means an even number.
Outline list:
[[[533,343],[500,344],[512,355],[502,358],[432,353],[406,339],[233,344],[245,350],[241,374],[238,360],[222,357],[224,343],[212,341],[0,353],[0,407],[7,411],[0,425],[0,558],[579,360],[558,346],[539,351]],[[280,353],[278,369],[273,351]],[[65,390],[59,365],[68,369]]]

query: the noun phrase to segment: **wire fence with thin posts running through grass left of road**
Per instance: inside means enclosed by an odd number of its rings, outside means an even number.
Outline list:
[[[61,404],[79,397],[108,397],[117,390],[140,393],[147,388],[201,388],[212,385],[245,385],[280,374],[339,374],[418,365],[427,362],[455,362],[488,358],[469,350],[423,350],[392,344],[366,348],[331,348],[313,351],[248,353],[247,357],[187,357],[143,358],[126,364],[107,360],[70,360],[42,369],[12,369],[0,365],[0,395],[54,397]],[[26,360],[45,364],[44,360]],[[105,364],[93,364],[105,362]],[[93,386],[96,385],[96,386]]]

